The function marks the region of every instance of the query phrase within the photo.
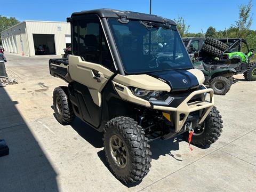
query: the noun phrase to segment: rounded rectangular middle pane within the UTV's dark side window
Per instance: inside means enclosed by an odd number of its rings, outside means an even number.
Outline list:
[[[100,63],[100,26],[98,22],[79,22],[79,53],[84,61]]]

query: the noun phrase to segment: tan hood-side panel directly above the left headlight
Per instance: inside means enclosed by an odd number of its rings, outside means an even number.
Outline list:
[[[114,82],[125,86],[133,86],[145,90],[171,91],[171,87],[157,78],[149,75],[116,75]]]

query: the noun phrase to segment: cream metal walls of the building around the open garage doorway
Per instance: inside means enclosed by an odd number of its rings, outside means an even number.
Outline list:
[[[70,35],[70,24],[54,21],[24,21],[1,33],[3,46],[6,51],[28,56],[35,56],[33,34],[54,35],[57,55],[63,54],[66,48],[65,35]]]

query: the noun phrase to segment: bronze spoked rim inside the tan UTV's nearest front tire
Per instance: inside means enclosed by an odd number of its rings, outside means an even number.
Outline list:
[[[127,165],[128,157],[127,148],[123,140],[119,136],[113,135],[109,140],[109,148],[115,164],[120,168],[124,168]]]

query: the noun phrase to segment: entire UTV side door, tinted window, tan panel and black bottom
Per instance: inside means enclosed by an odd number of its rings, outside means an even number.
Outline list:
[[[69,74],[74,93],[70,100],[77,116],[98,127],[101,91],[114,75],[113,59],[97,15],[73,17],[71,26],[73,55],[69,57]]]

